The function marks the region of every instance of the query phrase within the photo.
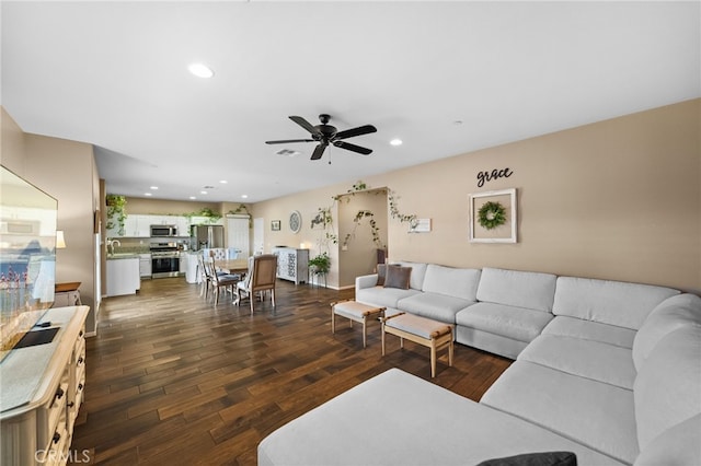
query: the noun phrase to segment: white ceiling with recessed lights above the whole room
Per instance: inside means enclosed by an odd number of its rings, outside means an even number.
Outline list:
[[[95,144],[136,197],[255,202],[701,96],[698,1],[5,0],[1,21],[8,113]],[[374,153],[264,143],[321,113],[375,125],[347,140]]]

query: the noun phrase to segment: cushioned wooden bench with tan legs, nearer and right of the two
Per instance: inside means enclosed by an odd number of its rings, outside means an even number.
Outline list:
[[[452,366],[452,325],[413,314],[400,313],[382,318],[382,356],[384,334],[395,335],[404,348],[404,338],[430,348],[430,376],[436,376],[436,352],[448,347],[448,365]]]

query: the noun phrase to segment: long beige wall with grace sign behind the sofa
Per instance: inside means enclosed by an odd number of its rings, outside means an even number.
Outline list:
[[[701,101],[600,121],[363,179],[388,187],[401,213],[430,218],[430,233],[388,222],[389,256],[460,267],[503,267],[701,290]],[[469,128],[467,129],[469,130]],[[376,156],[376,155],[372,155]],[[380,156],[380,155],[377,155]],[[481,171],[514,174],[476,186]],[[273,244],[314,244],[309,222],[355,183],[254,206]],[[469,242],[471,193],[518,189],[517,244]],[[303,229],[286,229],[289,211]],[[334,211],[337,215],[337,210]],[[337,217],[335,217],[337,218]],[[283,231],[271,232],[269,220]],[[338,252],[332,253],[336,257]],[[331,286],[338,280],[335,269]]]

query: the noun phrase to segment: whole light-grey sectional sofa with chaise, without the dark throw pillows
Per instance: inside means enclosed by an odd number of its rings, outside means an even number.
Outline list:
[[[475,465],[552,451],[573,452],[579,465],[701,465],[701,298],[515,270],[417,269],[410,289],[387,293],[359,277],[356,300],[452,319],[459,342],[515,362],[480,403],[388,371],[273,432],[260,465]]]

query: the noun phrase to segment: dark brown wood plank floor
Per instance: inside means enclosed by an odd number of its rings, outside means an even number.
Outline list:
[[[340,318],[331,334],[329,303],[353,290],[278,281],[276,296],[251,316],[172,278],[104,300],[71,450],[93,464],[255,465],[265,435],[374,375],[430,381],[428,349],[389,336],[382,358],[379,325],[367,349],[358,324]],[[455,357],[448,368],[441,354],[432,382],[475,400],[510,363],[461,345]]]

